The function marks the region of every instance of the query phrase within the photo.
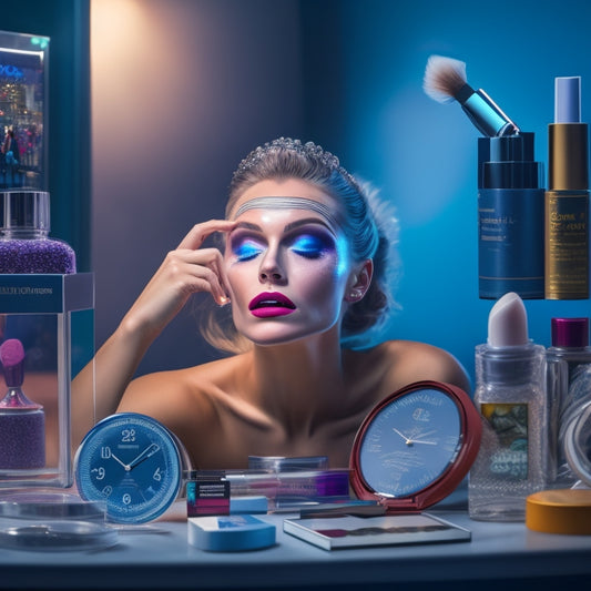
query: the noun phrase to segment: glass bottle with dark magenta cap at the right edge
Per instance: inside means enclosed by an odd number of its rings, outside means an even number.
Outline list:
[[[589,318],[552,318],[548,348],[550,486],[570,488],[578,481],[569,466],[564,435],[591,403]]]

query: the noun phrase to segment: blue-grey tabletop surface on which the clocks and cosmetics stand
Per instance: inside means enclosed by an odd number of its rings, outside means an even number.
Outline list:
[[[327,551],[283,531],[294,514],[257,516],[276,526],[276,544],[207,552],[187,543],[182,508],[145,526],[118,528],[110,548],[47,551],[1,548],[0,589],[482,589],[510,581],[588,581],[591,536],[480,522],[465,510],[430,511],[471,531],[471,541]],[[480,582],[480,584],[477,584]],[[537,584],[538,584],[537,583]],[[405,587],[407,585],[407,587]],[[492,587],[491,587],[492,588]]]

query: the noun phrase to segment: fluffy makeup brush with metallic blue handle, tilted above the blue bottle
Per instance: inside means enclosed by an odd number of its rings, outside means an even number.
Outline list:
[[[462,61],[431,55],[427,61],[422,88],[437,102],[458,101],[476,128],[488,137],[519,133],[519,128],[483,90],[473,90],[468,84]]]

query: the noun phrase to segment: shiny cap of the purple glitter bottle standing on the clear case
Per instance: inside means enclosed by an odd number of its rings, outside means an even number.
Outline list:
[[[0,230],[50,231],[49,193],[34,190],[2,191]]]

